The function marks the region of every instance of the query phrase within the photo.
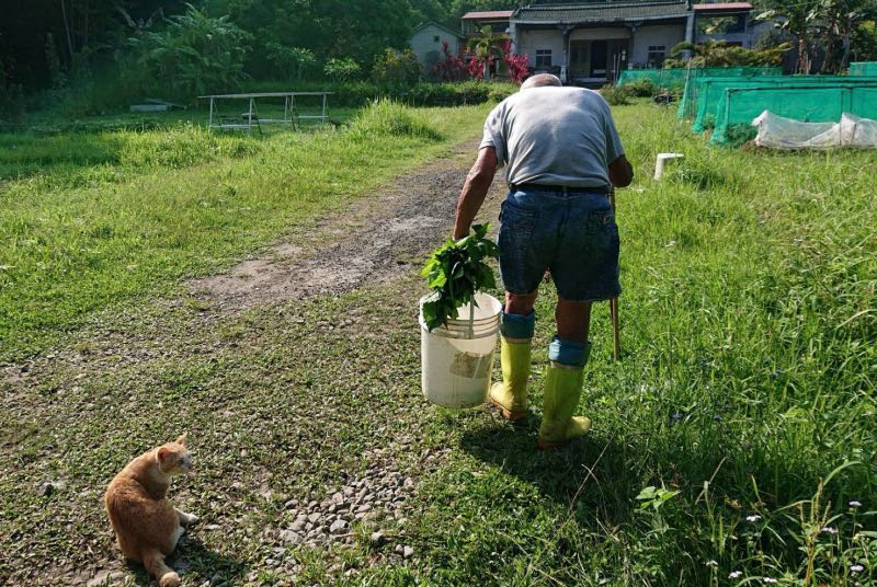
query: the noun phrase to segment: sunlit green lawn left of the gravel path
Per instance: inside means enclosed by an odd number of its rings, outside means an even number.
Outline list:
[[[435,157],[485,113],[400,111],[405,124],[380,131],[390,110],[368,110],[349,133],[259,138],[183,124],[1,136],[18,148],[0,150],[0,176],[20,179],[0,192],[0,359],[38,350],[94,311],[228,266]]]

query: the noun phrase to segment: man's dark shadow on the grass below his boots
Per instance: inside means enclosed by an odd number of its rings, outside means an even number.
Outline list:
[[[514,425],[491,423],[467,431],[460,447],[569,507],[584,527],[595,523],[595,510],[604,520],[629,520],[634,497],[641,490],[641,480],[625,467],[633,447],[592,433],[563,449],[542,451],[536,446],[538,429],[539,418],[529,414]]]

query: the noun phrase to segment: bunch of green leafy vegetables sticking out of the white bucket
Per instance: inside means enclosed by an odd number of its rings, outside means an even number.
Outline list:
[[[497,287],[493,269],[485,263],[497,258],[500,249],[487,238],[490,225],[475,225],[474,234],[454,242],[448,239],[436,249],[422,275],[432,288],[423,303],[423,320],[432,331],[456,318],[457,308],[474,301],[475,294]]]

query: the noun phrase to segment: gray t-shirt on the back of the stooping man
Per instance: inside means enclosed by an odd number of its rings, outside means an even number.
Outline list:
[[[479,149],[493,147],[509,185],[611,187],[607,165],[624,154],[610,105],[582,88],[523,90],[494,107]]]

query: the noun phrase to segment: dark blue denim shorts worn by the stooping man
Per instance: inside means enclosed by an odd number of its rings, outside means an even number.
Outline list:
[[[535,291],[545,269],[570,301],[622,292],[618,226],[605,194],[512,191],[500,211],[499,245],[500,274],[512,294]]]

